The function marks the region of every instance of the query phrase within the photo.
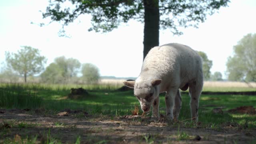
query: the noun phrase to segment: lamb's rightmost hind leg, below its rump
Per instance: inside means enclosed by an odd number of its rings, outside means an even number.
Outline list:
[[[189,86],[191,118],[196,121],[198,121],[198,106],[202,86],[203,82],[200,81],[194,81]]]

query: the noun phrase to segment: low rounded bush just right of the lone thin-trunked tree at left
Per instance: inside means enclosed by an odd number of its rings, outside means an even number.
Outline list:
[[[42,82],[46,83],[62,83],[64,82],[65,78],[62,76],[62,69],[58,64],[51,63],[49,66],[46,67],[46,70],[40,75]]]

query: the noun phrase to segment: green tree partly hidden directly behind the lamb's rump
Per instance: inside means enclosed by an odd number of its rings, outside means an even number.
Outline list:
[[[211,76],[210,69],[212,68],[212,60],[209,60],[206,53],[198,51],[198,54],[202,58],[204,80],[209,80]]]

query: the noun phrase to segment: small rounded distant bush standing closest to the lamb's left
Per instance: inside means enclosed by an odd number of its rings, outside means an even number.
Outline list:
[[[93,64],[83,64],[82,65],[82,79],[85,83],[92,84],[98,83],[100,80],[100,72],[99,69]]]

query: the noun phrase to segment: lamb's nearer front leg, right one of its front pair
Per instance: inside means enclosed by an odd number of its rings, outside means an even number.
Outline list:
[[[174,100],[177,92],[177,88],[173,88],[166,92],[165,95],[165,104],[166,104],[166,118],[173,120],[173,108]]]

